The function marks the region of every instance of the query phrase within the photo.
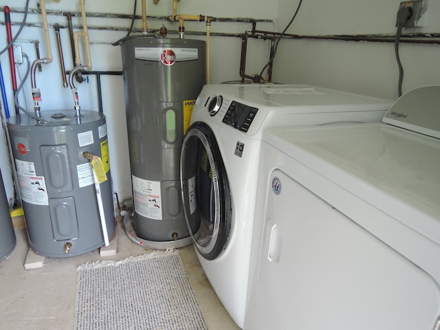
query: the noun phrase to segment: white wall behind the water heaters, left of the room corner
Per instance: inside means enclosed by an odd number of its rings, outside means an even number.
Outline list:
[[[25,0],[3,0],[3,5],[10,6],[14,9],[23,11]],[[30,0],[30,9],[36,8],[37,0]],[[56,49],[56,35],[52,25],[59,23],[62,26],[61,36],[63,43],[63,54],[66,69],[72,69],[72,54],[70,51],[70,43],[68,40],[68,31],[65,28],[67,21],[61,15],[62,12],[71,11],[79,12],[79,1],[74,0],[46,0],[47,12],[55,11],[60,14],[49,14],[48,21],[50,25],[50,38],[52,44],[52,54],[54,55],[53,63],[43,65],[43,72],[36,73],[36,83],[41,89],[43,102],[41,109],[72,109],[73,98],[70,89],[62,87],[61,72],[59,70],[58,52]],[[85,8],[88,13],[101,12],[113,14],[132,14],[133,3],[131,1],[118,0],[86,0]],[[142,0],[137,1],[137,15],[140,15]],[[168,16],[172,12],[172,1],[161,0],[157,5],[152,0],[146,0],[146,8],[148,16]],[[179,14],[203,14],[213,17],[252,17],[254,19],[276,19],[278,8],[276,3],[272,1],[260,1],[258,5],[254,5],[254,1],[236,1],[236,0],[181,0],[178,5]],[[19,29],[17,23],[23,20],[23,14],[11,14],[12,18],[12,34],[15,35]],[[6,32],[4,26],[4,15],[0,14],[0,49],[6,45]],[[40,14],[29,14],[28,23],[41,25],[42,19]],[[74,26],[81,25],[80,19],[74,17]],[[91,57],[93,69],[96,71],[120,71],[122,69],[121,56],[119,47],[111,45],[113,41],[125,36],[126,31],[115,31],[113,28],[128,28],[131,23],[130,19],[109,19],[87,17],[87,25],[89,26],[89,36],[91,41]],[[148,19],[148,28],[157,29],[162,25],[166,25],[168,30],[177,30],[177,23],[167,21],[159,21]],[[140,28],[141,22],[137,20],[135,28]],[[109,30],[98,30],[98,27],[111,27]],[[187,22],[186,32],[205,30],[205,23]],[[228,32],[243,33],[250,30],[250,23],[222,23],[213,22],[211,32]],[[257,28],[261,30],[273,30],[274,23],[258,23]],[[175,35],[169,35],[176,37]],[[204,39],[204,36],[186,36],[188,39]],[[28,54],[30,61],[35,59],[34,43],[30,41],[39,40],[41,56],[45,57],[45,42],[43,36],[43,28],[26,27],[19,36],[17,45],[23,47],[23,52]],[[241,52],[241,39],[228,36],[212,36],[211,38],[211,65],[210,65],[210,83],[221,83],[225,80],[239,79],[239,63]],[[259,72],[259,68],[268,60],[269,45],[265,41],[250,41],[248,50],[248,63],[246,72],[255,74]],[[83,59],[85,57],[83,56]],[[13,115],[13,97],[12,87],[10,83],[10,69],[8,62],[8,53],[1,55],[1,66],[7,90],[8,104],[10,113]],[[19,72],[25,72],[25,65],[20,65]],[[131,197],[131,175],[129,169],[129,153],[128,142],[126,138],[125,126],[125,109],[124,95],[122,87],[122,77],[120,76],[101,76],[102,78],[102,97],[104,105],[104,114],[107,116],[108,137],[110,146],[111,172],[113,177],[113,190],[118,192],[120,199]],[[18,78],[18,80],[21,80]],[[96,90],[96,78],[89,76],[87,83],[78,84],[78,95],[80,98],[81,109],[98,111],[98,92]],[[25,83],[23,94],[20,94],[21,105],[33,111],[32,95],[30,93],[30,82]],[[26,103],[26,102],[27,103]],[[0,134],[0,166],[3,173],[3,181],[8,197],[12,197],[12,172],[8,162],[8,151],[4,134]]]

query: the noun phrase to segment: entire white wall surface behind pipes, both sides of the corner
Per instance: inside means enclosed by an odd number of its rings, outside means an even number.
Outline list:
[[[137,1],[137,15],[141,14],[141,1]],[[205,14],[214,17],[252,17],[254,19],[274,19],[276,29],[283,30],[291,19],[299,0],[252,1],[252,0],[181,0],[179,13]],[[30,0],[30,8],[36,8],[37,0]],[[114,14],[131,14],[131,1],[117,0],[86,0],[87,12],[105,12]],[[292,34],[395,34],[395,17],[399,0],[304,0],[298,17],[288,33]],[[3,5],[12,9],[23,10],[25,0],[3,0]],[[158,5],[146,0],[147,14],[150,16],[167,16],[171,13],[172,1],[161,0]],[[46,0],[47,10],[57,12],[79,11],[78,1]],[[423,28],[411,29],[408,32],[440,32],[440,1],[430,0]],[[11,14],[12,34],[18,30],[18,22],[23,14]],[[54,23],[63,27],[65,17],[52,15],[48,17],[54,63],[43,65],[43,72],[37,72],[37,85],[41,88],[43,110],[70,109],[73,106],[69,89],[61,86],[61,74],[58,69],[58,54],[56,51]],[[0,14],[3,23],[3,14]],[[30,14],[28,23],[41,25],[40,14]],[[94,70],[119,71],[122,68],[119,47],[111,46],[113,41],[120,39],[126,31],[114,31],[113,28],[128,28],[130,19],[109,19],[88,17],[91,40],[91,56]],[[149,28],[159,28],[162,24],[169,30],[177,30],[177,23],[148,19]],[[74,25],[80,25],[80,20],[74,18]],[[135,28],[140,28],[137,20]],[[108,30],[97,30],[97,27],[111,27]],[[243,33],[250,30],[250,23],[212,23],[212,32]],[[259,30],[273,30],[273,23],[258,23]],[[186,31],[205,30],[204,23],[188,22]],[[67,29],[61,29],[63,53],[67,69],[72,69],[72,56],[68,41]],[[5,27],[0,24],[0,49],[5,46]],[[170,35],[171,37],[174,37]],[[187,38],[204,39],[203,36],[187,36]],[[23,51],[35,59],[34,43],[39,40],[41,56],[45,56],[45,43],[42,28],[26,27],[17,44],[22,45]],[[241,39],[235,37],[212,36],[210,83],[221,83],[225,80],[239,79]],[[401,43],[401,60],[405,69],[404,91],[419,85],[440,83],[440,46],[414,45]],[[248,50],[247,74],[259,73],[268,57],[267,41],[250,40]],[[13,112],[12,88],[7,53],[0,56],[3,75],[5,78],[8,103]],[[25,65],[19,71],[24,72]],[[274,81],[280,83],[308,83],[336,89],[345,89],[362,94],[397,98],[397,64],[393,43],[345,42],[323,40],[283,40],[278,47],[274,63]],[[78,85],[80,105],[82,109],[98,111],[96,78],[89,76],[89,82]],[[109,124],[109,144],[113,187],[120,198],[131,195],[131,179],[129,171],[128,144],[126,126],[124,124],[124,96],[122,78],[120,76],[102,76],[102,91],[104,113]],[[32,110],[30,83],[25,84],[21,104]],[[8,197],[12,195],[12,180],[8,166],[7,149],[4,134],[0,134],[0,166],[3,173]],[[9,172],[9,173],[8,173]]]

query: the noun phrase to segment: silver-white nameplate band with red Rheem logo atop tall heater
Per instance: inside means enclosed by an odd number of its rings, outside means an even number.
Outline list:
[[[173,58],[164,58],[164,56],[173,56]],[[162,62],[167,65],[174,62],[194,61],[199,58],[197,48],[179,48],[179,47],[135,47],[135,58],[137,60]]]

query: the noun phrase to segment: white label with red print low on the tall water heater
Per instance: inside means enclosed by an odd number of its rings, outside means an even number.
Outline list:
[[[135,212],[149,219],[162,220],[160,181],[150,181],[131,176]]]

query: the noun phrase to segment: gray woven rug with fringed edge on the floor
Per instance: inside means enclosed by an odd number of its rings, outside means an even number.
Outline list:
[[[176,250],[80,265],[77,330],[208,329]]]

